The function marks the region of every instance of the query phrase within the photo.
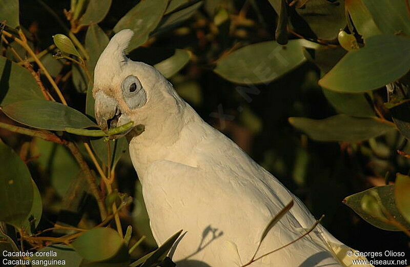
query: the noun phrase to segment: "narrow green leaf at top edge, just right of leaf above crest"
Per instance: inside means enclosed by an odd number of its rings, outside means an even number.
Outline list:
[[[188,6],[183,9],[176,9],[173,12],[168,13],[167,15],[163,16],[161,22],[158,25],[158,28],[155,30],[154,34],[158,34],[161,32],[166,32],[180,23],[184,22],[188,18],[190,18],[195,12],[202,6],[203,1],[194,0],[188,3]]]

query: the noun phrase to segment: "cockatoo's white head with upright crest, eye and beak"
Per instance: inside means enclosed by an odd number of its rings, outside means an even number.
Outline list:
[[[95,66],[95,116],[103,130],[131,120],[160,125],[178,112],[180,98],[169,81],[152,66],[126,57],[133,34],[129,29],[115,34]]]

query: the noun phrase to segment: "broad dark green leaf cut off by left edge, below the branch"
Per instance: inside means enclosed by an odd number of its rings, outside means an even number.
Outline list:
[[[1,139],[0,162],[0,221],[19,229],[33,207],[31,175],[23,160]]]

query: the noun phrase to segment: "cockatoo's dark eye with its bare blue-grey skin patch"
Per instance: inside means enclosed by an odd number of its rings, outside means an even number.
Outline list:
[[[122,81],[122,96],[130,109],[137,109],[147,102],[147,93],[137,77],[127,76]]]

